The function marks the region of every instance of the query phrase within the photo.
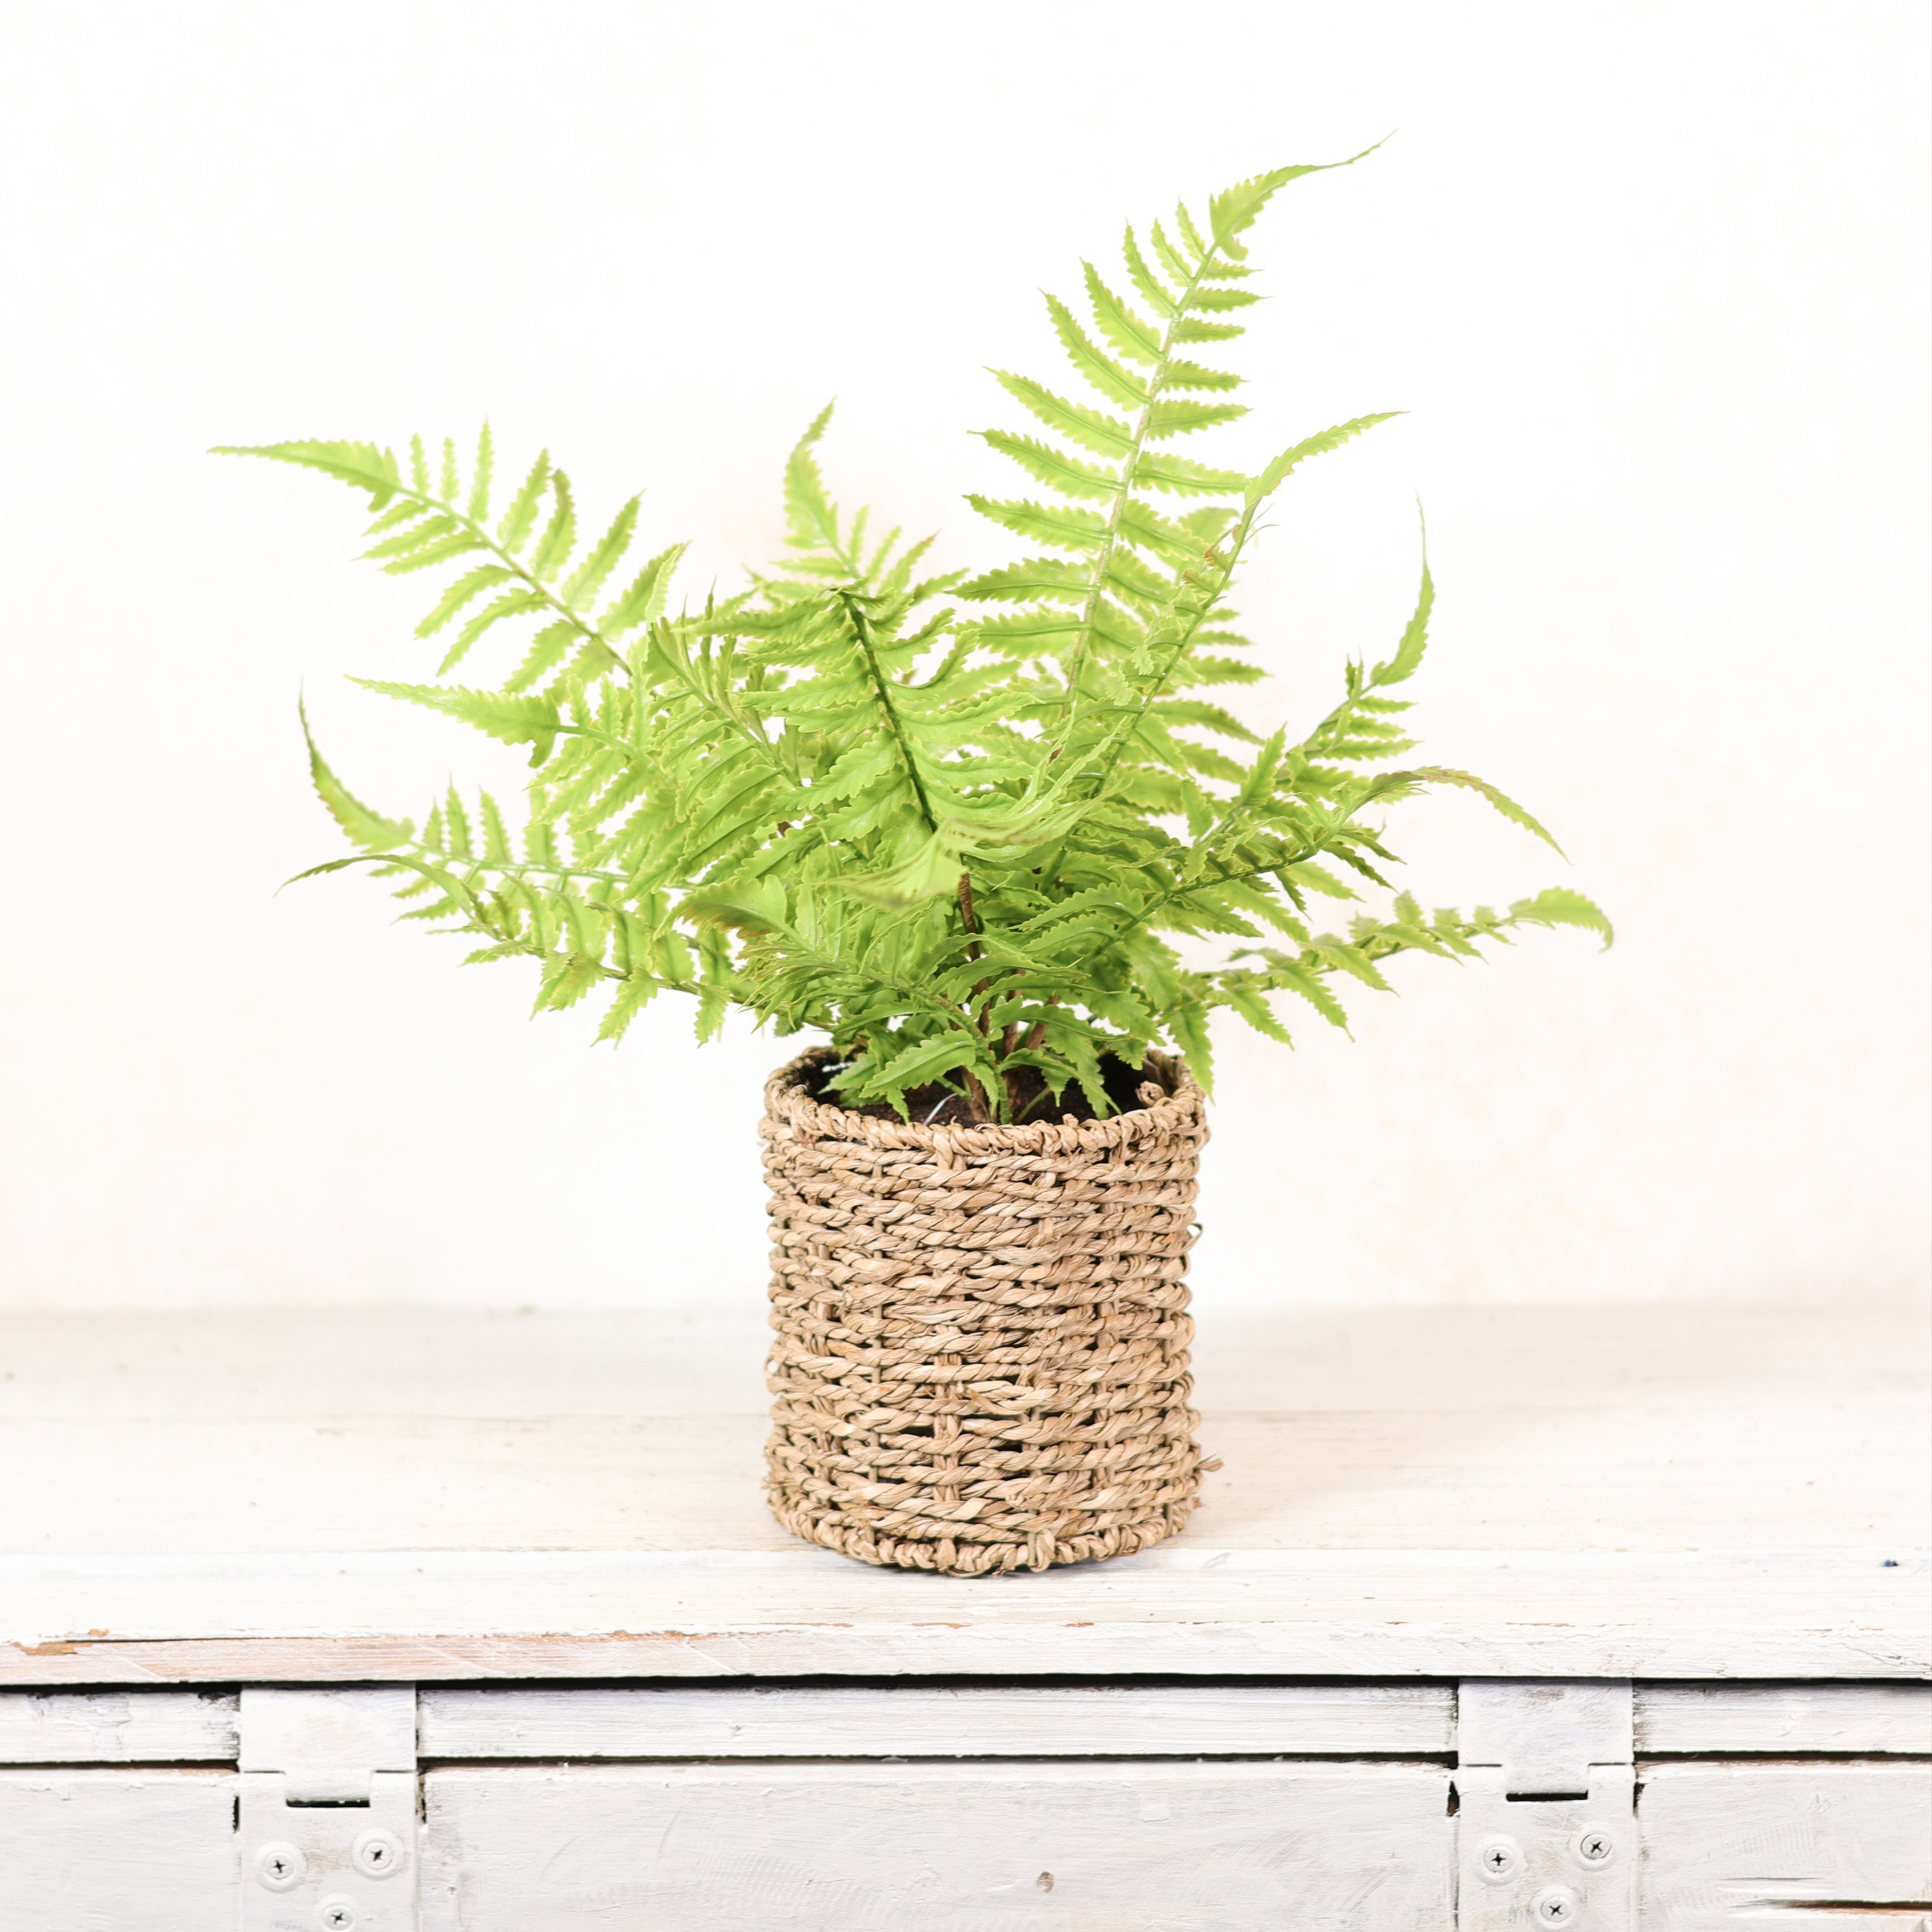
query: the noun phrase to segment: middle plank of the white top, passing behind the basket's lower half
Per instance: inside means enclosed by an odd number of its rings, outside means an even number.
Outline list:
[[[1909,1557],[1926,1540],[1905,1399],[1822,1418],[1223,1410],[1200,1435],[1223,1468],[1184,1540],[1209,1549]],[[786,1551],[763,1443],[755,1412],[0,1418],[0,1553]]]

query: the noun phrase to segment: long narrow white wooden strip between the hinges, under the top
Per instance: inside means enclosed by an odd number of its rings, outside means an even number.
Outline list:
[[[1428,1756],[1445,1685],[425,1690],[425,1758]]]

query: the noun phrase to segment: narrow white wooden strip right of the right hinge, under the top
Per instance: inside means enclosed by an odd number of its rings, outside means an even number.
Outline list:
[[[1932,1756],[1932,1685],[1638,1685],[1638,1756]]]

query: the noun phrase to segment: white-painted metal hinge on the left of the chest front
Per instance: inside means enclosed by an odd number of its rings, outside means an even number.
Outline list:
[[[417,1932],[415,1689],[242,1692],[242,1932]]]

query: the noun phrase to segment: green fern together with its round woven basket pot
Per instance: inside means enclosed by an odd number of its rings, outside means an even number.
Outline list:
[[[468,464],[421,440],[406,460],[232,452],[367,493],[367,554],[392,576],[450,572],[415,628],[446,639],[437,678],[359,682],[533,767],[514,837],[454,788],[415,825],[361,804],[309,738],[355,846],[313,871],[371,864],[471,960],[533,960],[539,1010],[605,999],[601,1039],[661,993],[697,1003],[699,1039],[732,1007],[819,1037],[765,1097],[771,1499],[867,1563],[1043,1569],[1186,1520],[1217,1009],[1289,1043],[1281,995],[1343,1026],[1337,989],[1387,987],[1403,952],[1468,958],[1528,925],[1609,941],[1571,891],[1464,914],[1389,887],[1381,815],[1430,786],[1549,837],[1482,779],[1403,763],[1426,560],[1395,649],[1347,665],[1298,740],[1208,696],[1262,676],[1229,593],[1275,493],[1387,419],[1252,475],[1175,448],[1244,413],[1240,379],[1198,357],[1258,299],[1256,216],[1314,172],[1128,230],[1124,278],[1084,270],[1088,319],[1049,298],[1086,394],[999,375],[1032,423],[985,440],[1034,493],[968,498],[1020,549],[972,578],[833,504],[831,410],[786,466],[786,554],[701,607],[670,601],[678,549],[618,578],[636,498],[580,541],[570,481],[539,456],[498,506],[487,429]],[[502,682],[456,682],[514,630]],[[1393,902],[1320,929],[1314,902],[1364,887]]]

